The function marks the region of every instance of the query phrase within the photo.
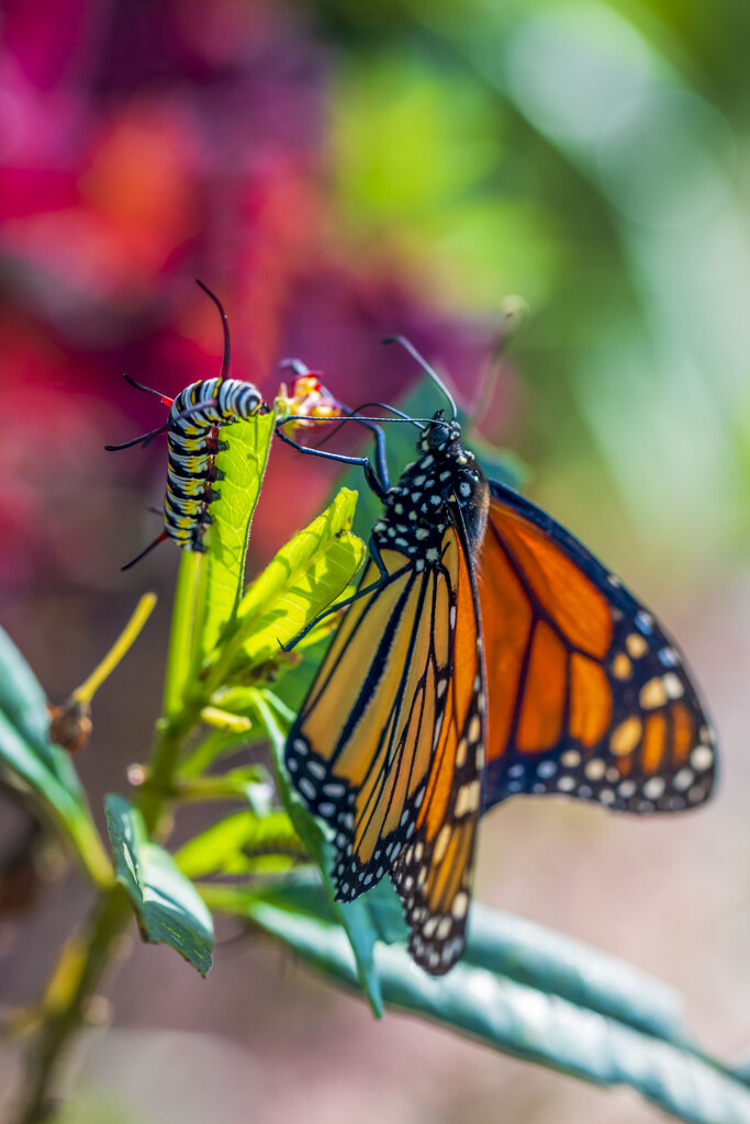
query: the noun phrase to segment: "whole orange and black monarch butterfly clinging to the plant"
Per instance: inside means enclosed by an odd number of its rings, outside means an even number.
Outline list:
[[[389,874],[409,952],[440,976],[466,942],[485,812],[521,794],[695,808],[715,742],[653,616],[551,516],[485,477],[448,389],[398,338],[453,415],[415,423],[417,459],[395,487],[381,443],[376,465],[337,457],[363,465],[383,513],[286,765],[335,833],[337,899]]]

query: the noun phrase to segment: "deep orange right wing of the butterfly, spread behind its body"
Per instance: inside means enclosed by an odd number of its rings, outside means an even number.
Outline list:
[[[714,737],[674,643],[563,527],[512,489],[490,490],[482,808],[545,792],[636,814],[704,803]]]

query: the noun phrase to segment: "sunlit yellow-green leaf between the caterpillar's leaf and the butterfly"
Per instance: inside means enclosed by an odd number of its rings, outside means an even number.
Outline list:
[[[364,560],[364,543],[349,533],[356,492],[342,488],[326,510],[283,546],[255,579],[237,613],[249,638],[243,655],[257,667],[279,645],[338,598]]]

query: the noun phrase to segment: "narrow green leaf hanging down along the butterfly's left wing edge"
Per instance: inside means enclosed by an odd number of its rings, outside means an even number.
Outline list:
[[[273,709],[270,704],[273,705]],[[329,873],[333,856],[327,836],[318,821],[309,814],[287,778],[283,764],[283,747],[286,743],[286,729],[288,728],[287,718],[291,716],[279,716],[279,705],[270,691],[257,692],[256,709],[271,743],[279,798],[289,813],[295,830],[305,844],[307,853],[319,868],[331,907],[334,910],[336,919],[343,926],[346,940],[350,943],[360,986],[364,991],[373,1015],[380,1018],[382,1016],[382,995],[374,967],[374,942],[378,934],[372,928],[367,908],[363,906],[361,899],[346,904],[334,900],[335,891]]]

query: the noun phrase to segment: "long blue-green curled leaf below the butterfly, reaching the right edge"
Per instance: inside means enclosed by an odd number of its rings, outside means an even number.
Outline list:
[[[373,894],[365,897],[373,898]],[[341,925],[331,919],[328,904],[322,903],[316,916],[314,903],[309,887],[297,910],[290,907],[289,900],[273,901],[270,894],[265,900],[249,896],[245,915],[289,944],[315,968],[356,988],[359,975],[351,943]],[[377,899],[370,908],[376,915],[380,912]],[[386,928],[390,924],[389,908],[383,918]],[[476,912],[476,905],[473,909]],[[506,918],[489,909],[482,914],[480,930],[489,924],[503,932]],[[721,1063],[690,1046],[689,1036],[674,1021],[669,1003],[661,1009],[662,998],[669,995],[662,985],[648,981],[630,966],[602,957],[596,950],[578,946],[594,964],[606,963],[606,971],[594,985],[585,959],[576,968],[568,957],[563,957],[562,963],[555,967],[558,942],[563,946],[575,942],[553,934],[544,934],[549,945],[543,963],[537,961],[539,970],[535,970],[540,935],[537,933],[532,941],[527,963],[517,955],[506,960],[508,972],[515,964],[516,976],[526,982],[463,960],[446,976],[433,979],[414,967],[403,945],[378,943],[374,967],[382,997],[389,1006],[448,1026],[515,1058],[595,1085],[629,1085],[678,1120],[692,1124],[750,1124],[750,1091]],[[486,945],[486,937],[487,932],[476,940]],[[518,944],[516,952],[522,948],[523,944]],[[482,955],[486,951],[485,946]],[[499,962],[503,960],[500,951]],[[566,976],[575,981],[579,970],[580,977],[572,988],[580,995],[579,1003],[563,998],[559,989],[549,988],[550,981],[557,980],[559,985]],[[649,1007],[652,998],[649,984],[658,997],[660,1013],[652,1033],[636,1028],[634,1023],[643,1027],[650,1025],[653,1013],[647,1010],[643,1017],[633,1017],[631,1009],[627,1021],[614,1013],[618,1008],[627,1009],[625,990],[633,979],[638,979],[638,990],[631,1008],[643,1005],[645,1010]],[[596,1004],[586,1003],[587,995],[589,999],[596,997]],[[605,1015],[602,1009],[613,1013]],[[658,1031],[662,1018],[663,1034]]]

